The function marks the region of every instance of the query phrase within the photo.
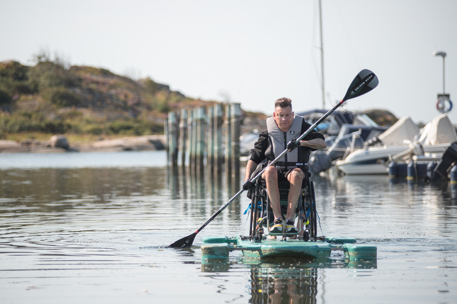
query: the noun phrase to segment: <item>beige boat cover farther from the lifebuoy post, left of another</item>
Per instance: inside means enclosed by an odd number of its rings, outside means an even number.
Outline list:
[[[383,144],[403,143],[403,140],[414,140],[414,136],[419,134],[419,128],[409,118],[404,116],[400,118],[389,129],[378,136]]]

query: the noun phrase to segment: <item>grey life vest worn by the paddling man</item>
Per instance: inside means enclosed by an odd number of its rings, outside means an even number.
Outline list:
[[[282,132],[276,124],[273,116],[266,119],[266,127],[268,130],[269,145],[265,151],[266,159],[271,161],[276,158],[275,155],[280,155],[282,151],[287,149],[287,143],[293,138],[298,138],[302,131],[303,116],[294,115],[292,125],[286,132]],[[300,157],[299,148],[294,149],[292,152],[287,152],[276,163],[278,169],[308,169],[308,160],[303,163],[303,157]]]

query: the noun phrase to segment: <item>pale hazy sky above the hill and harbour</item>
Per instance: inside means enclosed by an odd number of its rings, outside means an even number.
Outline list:
[[[32,65],[42,48],[72,65],[151,77],[192,98],[271,114],[322,108],[319,1],[0,0],[0,61]],[[362,69],[379,85],[347,109],[428,122],[443,90],[457,103],[457,1],[322,0],[324,107]],[[457,105],[455,105],[457,107]],[[457,124],[457,109],[448,113]]]

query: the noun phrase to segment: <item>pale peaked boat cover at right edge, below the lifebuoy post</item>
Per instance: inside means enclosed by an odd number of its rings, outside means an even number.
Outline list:
[[[421,144],[447,144],[457,141],[454,126],[446,114],[435,116],[420,133]]]

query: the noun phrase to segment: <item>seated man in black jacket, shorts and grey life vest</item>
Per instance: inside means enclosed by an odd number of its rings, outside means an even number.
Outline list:
[[[295,211],[298,198],[302,188],[302,182],[308,177],[308,159],[311,151],[325,149],[327,144],[324,135],[313,130],[298,144],[295,139],[303,134],[309,127],[303,116],[295,115],[292,112],[292,102],[289,98],[279,98],[275,102],[273,116],[266,119],[267,130],[259,134],[254,149],[250,150],[251,157],[246,166],[244,190],[249,190],[254,184],[250,177],[256,170],[258,164],[266,160],[266,165],[276,158],[285,149],[289,152],[278,160],[274,165],[269,166],[262,174],[266,182],[266,189],[271,202],[271,209],[274,216],[272,233],[282,233],[283,220],[286,221],[286,233],[298,233],[295,227]],[[298,148],[298,149],[296,149]],[[280,207],[280,193],[278,183],[289,183],[290,189],[287,197],[287,214],[283,218]],[[297,225],[298,227],[298,225]],[[303,227],[303,226],[302,226]],[[302,232],[300,232],[302,233]]]

